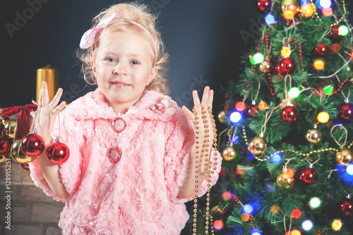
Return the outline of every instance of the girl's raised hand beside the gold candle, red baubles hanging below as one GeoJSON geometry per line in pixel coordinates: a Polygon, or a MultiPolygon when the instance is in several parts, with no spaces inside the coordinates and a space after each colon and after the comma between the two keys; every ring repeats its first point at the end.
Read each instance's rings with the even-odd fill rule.
{"type": "MultiPolygon", "coordinates": [[[[40,113],[39,116],[37,116],[37,119],[39,119],[39,125],[37,121],[35,127],[38,125],[37,133],[42,136],[44,141],[46,141],[46,144],[47,141],[52,140],[52,131],[54,129],[56,116],[58,116],[59,112],[64,109],[66,104],[66,102],[63,101],[58,105],[62,93],[63,90],[59,88],[52,102],[49,102],[47,83],[42,82],[42,88],[40,88],[40,100],[38,101],[38,106],[40,107],[40,113]]],[[[30,112],[30,115],[34,118],[35,112],[30,112]]],[[[59,133],[56,134],[59,135],[59,133]]]]}

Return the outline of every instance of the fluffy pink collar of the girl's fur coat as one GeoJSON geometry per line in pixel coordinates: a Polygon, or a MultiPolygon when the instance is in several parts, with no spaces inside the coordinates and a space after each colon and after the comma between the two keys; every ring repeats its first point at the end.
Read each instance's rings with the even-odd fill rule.
{"type": "Polygon", "coordinates": [[[153,90],[145,90],[140,100],[128,108],[125,114],[116,114],[112,107],[109,107],[104,94],[97,88],[79,97],[64,109],[64,115],[71,116],[77,120],[88,119],[116,119],[118,116],[134,116],[138,119],[155,119],[167,121],[172,119],[176,112],[177,103],[171,101],[174,107],[167,108],[163,114],[153,112],[150,107],[159,103],[163,95],[153,90]]]}

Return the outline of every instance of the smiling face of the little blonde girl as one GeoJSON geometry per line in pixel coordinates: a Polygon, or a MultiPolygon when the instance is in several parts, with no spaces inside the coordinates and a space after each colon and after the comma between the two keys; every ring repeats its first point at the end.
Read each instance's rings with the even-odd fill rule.
{"type": "Polygon", "coordinates": [[[133,31],[102,35],[92,62],[97,85],[115,112],[125,113],[140,100],[146,85],[155,77],[150,45],[133,31]]]}

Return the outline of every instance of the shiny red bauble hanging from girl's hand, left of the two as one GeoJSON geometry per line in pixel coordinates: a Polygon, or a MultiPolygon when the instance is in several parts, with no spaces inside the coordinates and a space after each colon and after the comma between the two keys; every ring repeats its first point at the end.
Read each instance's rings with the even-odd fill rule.
{"type": "Polygon", "coordinates": [[[25,155],[37,157],[44,151],[45,143],[40,135],[29,134],[23,138],[21,146],[25,155]]]}

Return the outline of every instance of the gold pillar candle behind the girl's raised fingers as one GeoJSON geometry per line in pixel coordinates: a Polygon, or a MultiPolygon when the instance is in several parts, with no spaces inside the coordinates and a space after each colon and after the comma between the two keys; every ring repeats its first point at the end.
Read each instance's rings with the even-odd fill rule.
{"type": "Polygon", "coordinates": [[[40,88],[43,81],[47,82],[49,101],[51,101],[58,90],[58,71],[50,67],[50,64],[37,69],[37,102],[40,100],[40,88]]]}

